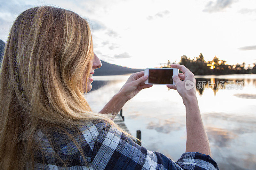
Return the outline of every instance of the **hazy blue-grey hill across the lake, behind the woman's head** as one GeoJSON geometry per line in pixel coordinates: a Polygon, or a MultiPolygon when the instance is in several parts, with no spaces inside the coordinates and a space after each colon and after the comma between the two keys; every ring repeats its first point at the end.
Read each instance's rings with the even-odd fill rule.
{"type": "MultiPolygon", "coordinates": [[[[4,45],[5,42],[0,40],[0,62],[2,61],[2,55],[4,54],[4,45]]],[[[135,73],[139,71],[143,71],[144,69],[132,69],[128,67],[122,67],[116,64],[110,64],[105,61],[101,61],[102,66],[99,69],[95,70],[93,75],[95,76],[107,76],[107,75],[124,75],[129,73],[135,73]]]]}

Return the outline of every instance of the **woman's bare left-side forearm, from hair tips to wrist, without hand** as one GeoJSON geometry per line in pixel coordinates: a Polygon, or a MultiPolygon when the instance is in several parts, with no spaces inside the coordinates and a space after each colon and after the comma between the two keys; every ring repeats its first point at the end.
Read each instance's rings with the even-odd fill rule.
{"type": "Polygon", "coordinates": [[[114,113],[117,115],[126,102],[126,98],[122,95],[122,93],[118,92],[114,97],[112,97],[112,99],[109,100],[109,102],[103,107],[103,109],[100,110],[99,113],[114,113]]]}

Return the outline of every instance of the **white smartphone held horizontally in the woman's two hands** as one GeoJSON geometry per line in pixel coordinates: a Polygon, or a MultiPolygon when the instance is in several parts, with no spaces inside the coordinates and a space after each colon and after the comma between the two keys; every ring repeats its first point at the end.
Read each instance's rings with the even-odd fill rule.
{"type": "Polygon", "coordinates": [[[148,79],[145,81],[146,85],[175,85],[172,80],[172,75],[179,74],[179,70],[176,68],[154,68],[145,69],[144,75],[148,75],[148,79]]]}

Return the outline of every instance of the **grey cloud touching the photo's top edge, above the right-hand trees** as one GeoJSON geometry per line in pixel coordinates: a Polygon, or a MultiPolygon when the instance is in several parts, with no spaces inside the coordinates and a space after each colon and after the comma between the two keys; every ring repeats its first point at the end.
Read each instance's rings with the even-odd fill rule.
{"type": "Polygon", "coordinates": [[[231,6],[231,4],[237,2],[237,0],[217,0],[215,2],[209,1],[205,5],[203,12],[220,12],[231,6]]]}

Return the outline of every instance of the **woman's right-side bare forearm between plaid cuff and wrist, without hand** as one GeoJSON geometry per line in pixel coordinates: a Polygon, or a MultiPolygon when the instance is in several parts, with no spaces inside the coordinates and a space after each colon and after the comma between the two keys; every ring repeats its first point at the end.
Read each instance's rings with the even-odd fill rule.
{"type": "Polygon", "coordinates": [[[196,97],[184,99],[187,120],[187,144],[186,152],[200,152],[211,154],[209,140],[204,129],[200,110],[196,97]]]}

